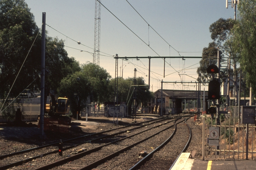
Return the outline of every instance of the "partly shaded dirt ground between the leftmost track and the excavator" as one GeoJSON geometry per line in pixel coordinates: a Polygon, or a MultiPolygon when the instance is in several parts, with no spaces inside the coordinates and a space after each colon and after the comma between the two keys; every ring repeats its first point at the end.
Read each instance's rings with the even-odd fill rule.
{"type": "MultiPolygon", "coordinates": [[[[138,115],[136,117],[137,122],[147,121],[149,119],[155,119],[158,115],[138,115]]],[[[109,129],[114,129],[120,126],[126,126],[132,123],[135,119],[132,118],[118,118],[118,124],[115,124],[113,117],[82,117],[80,120],[72,118],[71,126],[69,126],[68,132],[61,131],[45,131],[44,136],[40,135],[40,128],[38,128],[38,122],[22,122],[22,123],[0,123],[0,149],[6,146],[5,144],[20,145],[19,143],[43,145],[53,142],[58,142],[60,139],[70,139],[90,133],[97,133],[109,129]]]]}

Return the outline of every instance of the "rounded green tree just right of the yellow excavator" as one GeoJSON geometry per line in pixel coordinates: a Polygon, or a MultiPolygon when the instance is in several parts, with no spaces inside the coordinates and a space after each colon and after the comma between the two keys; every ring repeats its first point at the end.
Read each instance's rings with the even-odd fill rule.
{"type": "Polygon", "coordinates": [[[79,115],[88,99],[99,103],[106,101],[109,97],[109,78],[109,73],[102,67],[92,63],[83,64],[80,71],[61,80],[58,95],[68,97],[72,115],[77,111],[79,115]]]}

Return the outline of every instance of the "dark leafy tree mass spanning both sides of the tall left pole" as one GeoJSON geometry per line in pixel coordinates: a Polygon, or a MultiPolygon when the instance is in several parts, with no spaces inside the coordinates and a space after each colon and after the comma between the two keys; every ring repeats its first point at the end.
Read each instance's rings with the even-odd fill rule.
{"type": "MultiPolygon", "coordinates": [[[[11,96],[9,95],[8,98],[16,98],[27,87],[31,91],[40,90],[39,30],[34,22],[34,15],[24,0],[0,1],[1,99],[6,99],[9,91],[11,96]]],[[[68,57],[64,49],[64,41],[46,37],[45,95],[47,96],[49,92],[55,93],[64,77],[79,70],[79,63],[74,58],[68,57]]]]}

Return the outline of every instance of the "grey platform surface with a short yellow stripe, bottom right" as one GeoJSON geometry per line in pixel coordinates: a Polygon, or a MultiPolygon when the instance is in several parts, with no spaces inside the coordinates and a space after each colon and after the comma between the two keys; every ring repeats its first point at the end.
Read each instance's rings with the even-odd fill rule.
{"type": "Polygon", "coordinates": [[[200,161],[195,160],[191,170],[255,170],[256,160],[200,161]]]}

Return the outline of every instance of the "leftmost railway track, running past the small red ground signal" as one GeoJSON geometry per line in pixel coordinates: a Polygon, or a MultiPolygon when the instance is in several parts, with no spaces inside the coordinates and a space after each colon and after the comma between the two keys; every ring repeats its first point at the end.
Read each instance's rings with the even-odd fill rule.
{"type": "MultiPolygon", "coordinates": [[[[172,119],[172,118],[169,117],[166,119],[172,119]]],[[[75,139],[69,139],[69,140],[63,141],[66,146],[63,149],[65,153],[63,155],[64,157],[72,157],[73,153],[75,152],[75,150],[78,150],[80,145],[81,145],[80,148],[85,147],[85,150],[93,150],[94,148],[101,147],[106,143],[111,143],[111,141],[121,139],[122,136],[132,136],[132,135],[135,135],[136,133],[143,133],[143,131],[145,131],[144,129],[146,129],[147,131],[150,127],[158,128],[156,126],[157,123],[160,124],[158,125],[159,127],[164,126],[163,122],[165,121],[166,121],[165,119],[146,121],[143,123],[134,124],[133,126],[116,128],[116,129],[108,130],[101,133],[94,133],[94,134],[85,135],[75,139]],[[74,141],[76,144],[74,144],[74,141]]],[[[0,156],[0,159],[2,159],[0,160],[0,163],[3,165],[5,164],[4,166],[0,167],[0,169],[8,169],[10,167],[13,167],[12,169],[20,169],[20,168],[23,169],[28,165],[30,166],[26,167],[27,169],[34,169],[36,167],[35,165],[38,164],[39,160],[41,159],[43,160],[44,158],[47,158],[47,157],[55,157],[55,158],[53,159],[47,158],[47,161],[44,162],[44,165],[47,163],[50,164],[51,161],[62,160],[63,157],[60,157],[56,154],[57,146],[55,145],[56,143],[53,143],[53,144],[49,144],[49,145],[45,145],[37,148],[22,150],[16,153],[11,153],[9,155],[0,156]],[[11,160],[21,160],[21,161],[11,162],[11,160]]]]}

